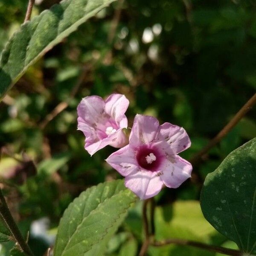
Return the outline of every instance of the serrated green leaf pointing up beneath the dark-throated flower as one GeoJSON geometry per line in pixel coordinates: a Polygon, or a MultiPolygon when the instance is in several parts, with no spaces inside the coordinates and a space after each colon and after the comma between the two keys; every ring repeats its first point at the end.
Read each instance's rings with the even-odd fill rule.
{"type": "Polygon", "coordinates": [[[113,235],[135,200],[122,180],[101,183],[82,192],[61,218],[54,256],[84,256],[94,244],[113,235]]]}

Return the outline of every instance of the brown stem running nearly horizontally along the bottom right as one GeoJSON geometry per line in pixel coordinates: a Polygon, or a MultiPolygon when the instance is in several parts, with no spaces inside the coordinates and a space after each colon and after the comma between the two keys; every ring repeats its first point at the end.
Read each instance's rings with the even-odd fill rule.
{"type": "Polygon", "coordinates": [[[189,241],[189,240],[182,240],[182,239],[167,239],[165,241],[155,241],[152,245],[154,246],[164,246],[167,244],[177,244],[177,245],[187,245],[187,246],[192,246],[192,247],[197,247],[203,250],[209,250],[212,252],[216,253],[223,253],[226,255],[231,255],[231,256],[241,256],[243,253],[239,250],[233,250],[233,249],[228,249],[224,247],[218,247],[214,245],[209,245],[209,244],[203,244],[195,241],[189,241]]]}

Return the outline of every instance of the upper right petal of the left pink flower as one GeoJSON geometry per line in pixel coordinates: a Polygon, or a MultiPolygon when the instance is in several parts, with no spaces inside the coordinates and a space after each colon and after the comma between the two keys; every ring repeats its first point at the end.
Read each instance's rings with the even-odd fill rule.
{"type": "MultiPolygon", "coordinates": [[[[128,105],[129,100],[124,95],[114,93],[106,99],[105,111],[116,121],[116,123],[119,123],[122,119],[127,120],[125,112],[128,105]]],[[[127,128],[127,126],[122,128],[127,128]]]]}

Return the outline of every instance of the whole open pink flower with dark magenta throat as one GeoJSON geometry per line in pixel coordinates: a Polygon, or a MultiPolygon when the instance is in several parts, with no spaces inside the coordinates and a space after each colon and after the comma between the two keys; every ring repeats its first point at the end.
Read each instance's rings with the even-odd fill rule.
{"type": "Polygon", "coordinates": [[[191,142],[186,131],[153,116],[136,115],[129,144],[106,160],[125,177],[125,186],[141,199],[157,195],[163,185],[177,188],[191,177],[192,166],[178,156],[191,142]]]}

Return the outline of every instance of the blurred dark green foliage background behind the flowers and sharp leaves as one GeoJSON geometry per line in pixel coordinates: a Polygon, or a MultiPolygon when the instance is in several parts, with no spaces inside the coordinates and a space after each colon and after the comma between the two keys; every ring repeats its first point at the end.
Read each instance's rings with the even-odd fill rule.
{"type": "MultiPolygon", "coordinates": [[[[58,0],[37,0],[32,16],[58,0]]],[[[23,23],[27,1],[0,0],[0,51],[23,23]]],[[[0,103],[0,180],[35,256],[54,243],[59,219],[89,186],[121,178],[93,157],[77,131],[76,107],[88,95],[113,92],[136,113],[156,116],[188,132],[189,160],[256,90],[255,0],[119,0],[80,26],[41,58],[0,103]]],[[[224,157],[256,137],[250,111],[204,161],[192,179],[156,197],[156,238],[177,237],[236,248],[204,219],[200,190],[224,157]]],[[[142,202],[111,239],[108,256],[136,256],[143,241],[142,202]]],[[[9,255],[12,242],[1,244],[9,255]]],[[[219,256],[191,247],[150,247],[150,256],[219,256]]]]}

